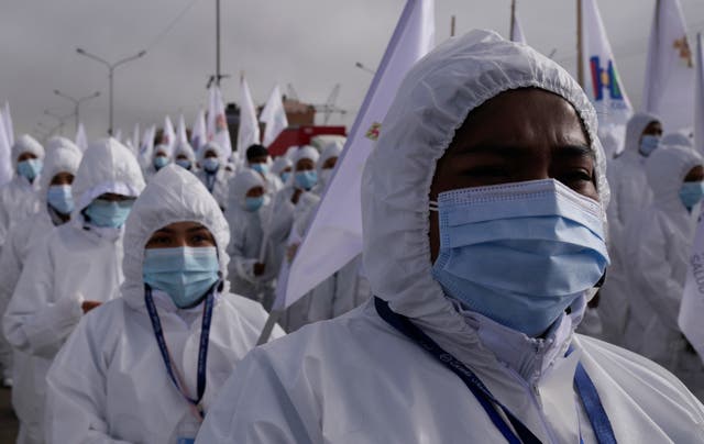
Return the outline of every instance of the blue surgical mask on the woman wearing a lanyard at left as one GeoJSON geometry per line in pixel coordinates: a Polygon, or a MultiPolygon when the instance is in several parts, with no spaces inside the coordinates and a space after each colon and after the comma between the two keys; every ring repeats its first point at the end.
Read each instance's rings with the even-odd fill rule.
{"type": "Polygon", "coordinates": [[[196,304],[219,279],[216,247],[147,248],[143,277],[150,287],[166,292],[176,307],[196,304]]]}

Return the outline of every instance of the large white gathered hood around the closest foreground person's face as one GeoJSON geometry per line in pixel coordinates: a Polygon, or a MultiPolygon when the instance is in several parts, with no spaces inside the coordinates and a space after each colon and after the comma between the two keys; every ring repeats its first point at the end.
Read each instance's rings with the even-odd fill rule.
{"type": "Polygon", "coordinates": [[[540,88],[568,100],[596,157],[603,220],[609,199],[596,114],[578,82],[529,46],[488,31],[450,38],[402,82],[362,178],[364,269],[375,296],[436,337],[476,341],[432,278],[429,192],[437,160],[476,107],[503,91],[540,88]]]}

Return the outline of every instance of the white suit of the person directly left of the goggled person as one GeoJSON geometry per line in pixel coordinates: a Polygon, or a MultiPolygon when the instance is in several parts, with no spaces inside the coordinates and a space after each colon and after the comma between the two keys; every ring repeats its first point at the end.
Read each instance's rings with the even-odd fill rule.
{"type": "MultiPolygon", "coordinates": [[[[50,147],[44,160],[43,174],[40,177],[40,211],[15,224],[10,231],[8,242],[2,247],[2,253],[0,254],[0,315],[4,313],[10,302],[29,252],[34,245],[44,242],[54,225],[63,223],[48,207],[46,192],[52,179],[57,174],[76,174],[82,154],[73,142],[63,140],[62,143],[62,145],[50,147]]],[[[6,342],[4,335],[2,335],[0,342],[6,342]]],[[[9,344],[7,344],[7,347],[11,353],[9,344]]],[[[11,378],[12,360],[8,358],[9,356],[6,355],[2,359],[3,370],[6,371],[3,377],[11,378]]]]}

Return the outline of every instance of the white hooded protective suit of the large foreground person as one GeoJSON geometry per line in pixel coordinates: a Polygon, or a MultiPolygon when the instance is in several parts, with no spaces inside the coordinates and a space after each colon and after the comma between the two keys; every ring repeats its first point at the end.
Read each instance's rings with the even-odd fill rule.
{"type": "MultiPolygon", "coordinates": [[[[435,165],[468,112],[504,90],[564,97],[584,122],[608,201],[596,115],[575,80],[529,46],[473,31],[424,57],[402,82],[362,181],[364,265],[374,295],[470,367],[542,443],[595,442],[575,396],[579,359],[620,443],[704,442],[704,408],[672,375],[575,335],[586,297],[551,334],[529,338],[460,312],[432,278],[435,165]],[[574,351],[564,357],[569,344],[574,351]]],[[[591,292],[591,291],[587,291],[591,292]]],[[[197,443],[505,443],[468,387],[367,303],[254,349],[230,377],[197,443]]]]}

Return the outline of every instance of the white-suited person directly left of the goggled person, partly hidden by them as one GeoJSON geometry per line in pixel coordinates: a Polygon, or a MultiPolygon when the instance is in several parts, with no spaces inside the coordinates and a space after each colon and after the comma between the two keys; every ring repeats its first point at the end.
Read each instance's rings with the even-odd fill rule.
{"type": "MultiPolygon", "coordinates": [[[[63,138],[63,137],[62,137],[63,138]]],[[[0,254],[0,313],[4,313],[14,287],[20,279],[24,260],[34,245],[44,242],[54,226],[70,219],[73,197],[70,185],[80,163],[81,152],[73,142],[63,138],[62,145],[48,149],[40,177],[40,211],[12,227],[0,254]]],[[[4,342],[4,335],[2,342],[4,342]]],[[[7,343],[6,343],[7,344],[7,343]]],[[[9,344],[7,344],[10,347],[9,344]]],[[[9,349],[11,352],[11,348],[9,349]]],[[[4,364],[3,382],[12,382],[12,360],[4,364]]],[[[8,384],[10,382],[10,384],[8,384]]],[[[20,388],[21,391],[21,388],[20,388]]]]}

